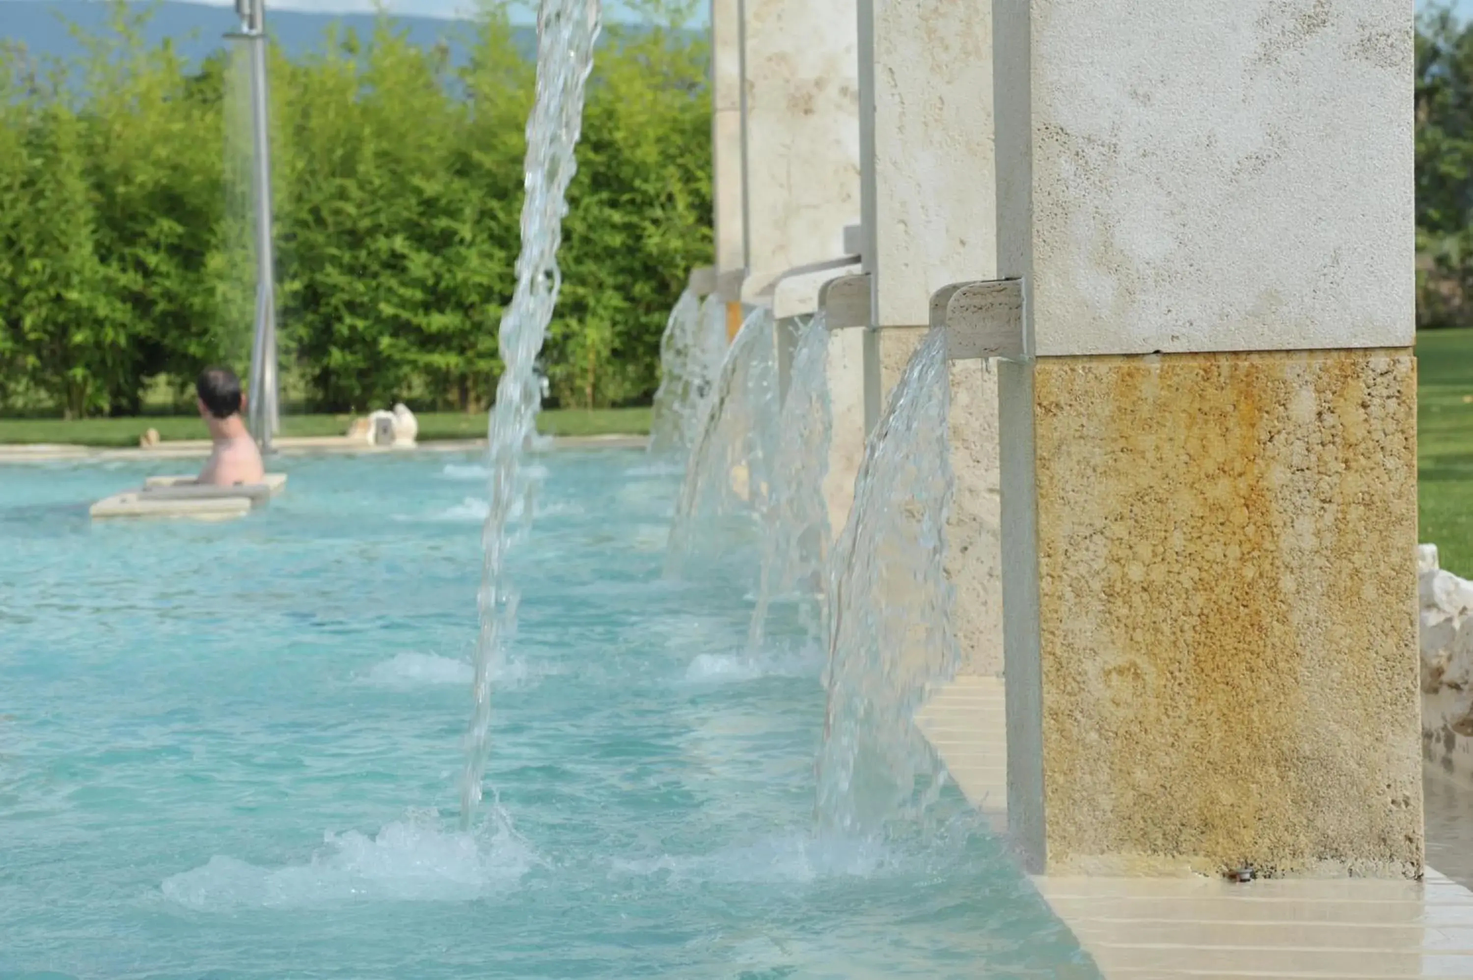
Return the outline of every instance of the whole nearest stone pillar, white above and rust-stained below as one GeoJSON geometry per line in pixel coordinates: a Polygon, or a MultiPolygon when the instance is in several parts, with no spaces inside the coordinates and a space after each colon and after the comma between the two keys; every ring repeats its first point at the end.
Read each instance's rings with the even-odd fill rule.
{"type": "Polygon", "coordinates": [[[996,10],[1010,828],[1417,877],[1411,4],[996,10]]]}

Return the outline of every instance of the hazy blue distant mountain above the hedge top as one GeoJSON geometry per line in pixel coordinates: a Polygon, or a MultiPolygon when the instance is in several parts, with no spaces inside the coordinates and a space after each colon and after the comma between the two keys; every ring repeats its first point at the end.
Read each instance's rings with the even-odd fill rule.
{"type": "MultiPolygon", "coordinates": [[[[467,50],[474,31],[468,21],[424,16],[390,16],[389,21],[414,44],[435,47],[443,43],[452,56],[467,50]]],[[[34,55],[59,57],[80,55],[81,46],[71,35],[68,22],[87,32],[97,32],[108,24],[108,4],[93,0],[0,0],[0,37],[19,41],[34,55]]],[[[327,43],[327,28],[333,24],[354,28],[364,37],[373,31],[376,18],[371,13],[302,13],[270,10],[270,7],[267,13],[267,31],[289,55],[323,50],[327,43]]],[[[222,47],[222,35],[239,25],[233,7],[162,0],[143,34],[150,43],[172,38],[175,50],[197,63],[222,47]]],[[[520,49],[535,56],[536,28],[516,28],[516,40],[520,49]]]]}

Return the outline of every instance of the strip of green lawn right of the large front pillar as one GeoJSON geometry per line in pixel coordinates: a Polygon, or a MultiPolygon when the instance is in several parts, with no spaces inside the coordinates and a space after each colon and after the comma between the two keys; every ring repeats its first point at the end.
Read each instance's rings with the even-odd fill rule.
{"type": "Polygon", "coordinates": [[[1417,337],[1421,541],[1473,578],[1473,330],[1417,337]]]}

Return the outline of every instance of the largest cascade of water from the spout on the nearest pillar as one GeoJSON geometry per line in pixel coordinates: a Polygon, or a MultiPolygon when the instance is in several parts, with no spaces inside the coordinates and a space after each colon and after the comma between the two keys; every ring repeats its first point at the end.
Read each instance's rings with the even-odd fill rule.
{"type": "Polygon", "coordinates": [[[946,337],[932,330],[869,439],[831,566],[820,831],[881,834],[921,816],[944,781],[912,718],[957,663],[943,570],[949,402],[946,337]]]}

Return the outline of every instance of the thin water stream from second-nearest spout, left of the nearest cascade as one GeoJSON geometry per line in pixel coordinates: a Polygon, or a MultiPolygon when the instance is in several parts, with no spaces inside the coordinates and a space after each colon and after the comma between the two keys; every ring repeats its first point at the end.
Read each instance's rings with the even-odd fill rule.
{"type": "Polygon", "coordinates": [[[825,570],[832,544],[823,479],[834,419],[828,392],[828,324],[816,314],[798,333],[792,380],[778,421],[772,500],[763,535],[757,609],[747,635],[762,647],[775,598],[794,595],[810,637],[826,634],[825,570]]]}

